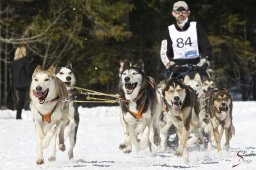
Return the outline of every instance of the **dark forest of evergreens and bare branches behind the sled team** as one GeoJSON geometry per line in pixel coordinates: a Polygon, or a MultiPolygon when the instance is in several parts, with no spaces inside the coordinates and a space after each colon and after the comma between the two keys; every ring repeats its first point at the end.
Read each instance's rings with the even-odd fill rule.
{"type": "MultiPolygon", "coordinates": [[[[15,108],[11,65],[25,45],[34,66],[71,62],[77,85],[118,92],[119,61],[142,59],[164,79],[161,38],[174,22],[174,0],[1,0],[0,106],[15,108]]],[[[187,0],[213,49],[211,68],[236,100],[256,100],[256,1],[187,0]]]]}

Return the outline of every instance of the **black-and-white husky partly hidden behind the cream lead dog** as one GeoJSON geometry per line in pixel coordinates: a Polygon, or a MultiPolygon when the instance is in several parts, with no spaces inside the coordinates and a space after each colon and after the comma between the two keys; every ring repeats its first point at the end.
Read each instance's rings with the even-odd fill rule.
{"type": "Polygon", "coordinates": [[[68,136],[70,141],[70,148],[68,151],[69,159],[73,159],[73,149],[77,140],[77,130],[79,125],[79,113],[78,106],[72,101],[73,95],[76,93],[74,89],[76,83],[76,77],[72,70],[72,65],[68,64],[65,67],[57,67],[55,69],[56,77],[58,77],[63,83],[65,83],[68,90],[68,96],[71,101],[69,102],[68,119],[63,123],[62,129],[65,129],[64,138],[68,136]]]}

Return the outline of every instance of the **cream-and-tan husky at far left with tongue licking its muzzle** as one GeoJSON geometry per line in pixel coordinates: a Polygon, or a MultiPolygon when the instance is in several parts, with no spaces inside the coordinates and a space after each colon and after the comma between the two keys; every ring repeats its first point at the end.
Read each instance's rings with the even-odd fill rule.
{"type": "Polygon", "coordinates": [[[56,138],[59,135],[60,150],[65,150],[64,136],[61,135],[62,123],[68,116],[68,92],[65,85],[55,77],[54,67],[48,70],[37,66],[30,85],[30,109],[32,111],[37,136],[36,164],[44,163],[43,149],[52,142],[49,161],[56,159],[56,138]]]}

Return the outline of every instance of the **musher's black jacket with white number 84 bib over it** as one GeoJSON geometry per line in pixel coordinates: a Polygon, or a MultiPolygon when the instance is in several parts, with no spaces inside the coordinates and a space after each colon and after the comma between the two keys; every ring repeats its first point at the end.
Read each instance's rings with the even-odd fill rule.
{"type": "Polygon", "coordinates": [[[203,27],[194,21],[188,21],[181,29],[177,23],[168,26],[161,43],[161,60],[166,66],[174,61],[178,65],[193,64],[200,57],[212,58],[212,49],[203,27]]]}

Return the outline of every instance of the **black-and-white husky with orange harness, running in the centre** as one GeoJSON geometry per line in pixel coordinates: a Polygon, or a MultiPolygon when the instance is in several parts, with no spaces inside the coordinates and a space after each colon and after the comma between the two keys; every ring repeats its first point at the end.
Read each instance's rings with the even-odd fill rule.
{"type": "Polygon", "coordinates": [[[120,106],[124,143],[119,145],[124,153],[148,149],[159,144],[160,95],[153,78],[146,76],[144,63],[125,60],[120,63],[120,106]]]}

